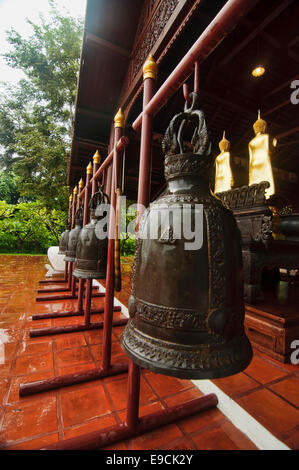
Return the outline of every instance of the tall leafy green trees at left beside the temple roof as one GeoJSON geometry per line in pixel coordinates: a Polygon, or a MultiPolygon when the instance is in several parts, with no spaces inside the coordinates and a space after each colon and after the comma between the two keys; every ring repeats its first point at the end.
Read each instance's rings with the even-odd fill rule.
{"type": "MultiPolygon", "coordinates": [[[[66,209],[66,170],[73,132],[83,22],[52,6],[47,21],[27,20],[32,35],[8,31],[7,63],[27,79],[5,85],[0,100],[0,165],[17,177],[25,200],[66,209]]],[[[6,199],[6,195],[2,196],[6,199]]],[[[11,201],[12,202],[12,201],[11,201]]]]}

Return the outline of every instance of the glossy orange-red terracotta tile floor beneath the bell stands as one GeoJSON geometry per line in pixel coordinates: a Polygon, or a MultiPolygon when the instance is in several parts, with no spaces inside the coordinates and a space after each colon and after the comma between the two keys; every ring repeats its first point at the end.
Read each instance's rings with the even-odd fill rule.
{"type": "MultiPolygon", "coordinates": [[[[20,398],[20,383],[89,370],[99,364],[102,331],[30,338],[29,329],[75,324],[80,317],[32,321],[32,313],[69,310],[70,300],[35,302],[46,257],[0,256],[0,448],[37,449],[63,438],[120,423],[126,411],[126,374],[20,398]]],[[[129,259],[124,260],[123,288],[117,295],[127,305],[129,259]]],[[[103,299],[94,299],[102,306],[103,299]]],[[[115,313],[115,318],[120,313],[115,313]]],[[[100,315],[93,315],[97,321],[100,315]]],[[[113,330],[113,359],[126,360],[119,345],[122,327],[113,330]]],[[[255,353],[240,374],[214,383],[275,436],[299,448],[298,367],[255,353]]],[[[201,396],[187,380],[142,371],[140,415],[201,396]]],[[[112,446],[113,449],[256,449],[218,409],[112,446]]]]}

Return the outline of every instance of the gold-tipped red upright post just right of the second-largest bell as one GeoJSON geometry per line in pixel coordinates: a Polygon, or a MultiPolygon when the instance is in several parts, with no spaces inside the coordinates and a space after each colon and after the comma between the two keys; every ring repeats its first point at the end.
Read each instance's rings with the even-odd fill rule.
{"type": "Polygon", "coordinates": [[[119,152],[116,143],[123,133],[124,116],[121,109],[114,118],[114,157],[112,163],[112,184],[110,199],[110,218],[109,218],[109,240],[107,254],[107,275],[106,275],[106,292],[105,292],[105,311],[104,311],[104,331],[103,331],[103,349],[102,349],[102,369],[108,370],[111,363],[111,333],[113,321],[113,304],[114,304],[114,236],[115,236],[115,209],[116,209],[116,160],[119,158],[119,152]]]}

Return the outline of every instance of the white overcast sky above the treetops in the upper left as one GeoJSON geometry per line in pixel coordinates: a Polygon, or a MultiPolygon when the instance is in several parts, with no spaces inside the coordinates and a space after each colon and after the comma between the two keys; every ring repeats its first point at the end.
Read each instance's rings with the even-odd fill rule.
{"type": "MultiPolygon", "coordinates": [[[[67,9],[72,16],[84,18],[86,0],[56,0],[59,11],[67,9]]],[[[49,15],[48,0],[0,0],[0,54],[10,48],[6,40],[5,31],[14,28],[22,36],[30,36],[31,27],[26,23],[29,18],[34,23],[39,23],[39,13],[45,18],[49,15]]],[[[17,83],[24,75],[22,72],[8,67],[0,57],[0,81],[17,83]]]]}

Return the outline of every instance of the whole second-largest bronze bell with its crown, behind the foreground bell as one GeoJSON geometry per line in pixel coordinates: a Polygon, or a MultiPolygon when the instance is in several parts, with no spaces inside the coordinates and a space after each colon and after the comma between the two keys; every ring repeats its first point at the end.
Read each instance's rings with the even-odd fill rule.
{"type": "Polygon", "coordinates": [[[73,272],[75,277],[83,279],[106,277],[108,238],[100,239],[96,234],[97,223],[104,217],[101,208],[103,203],[109,203],[109,199],[102,190],[96,192],[90,199],[91,221],[82,228],[78,238],[73,272]]]}

